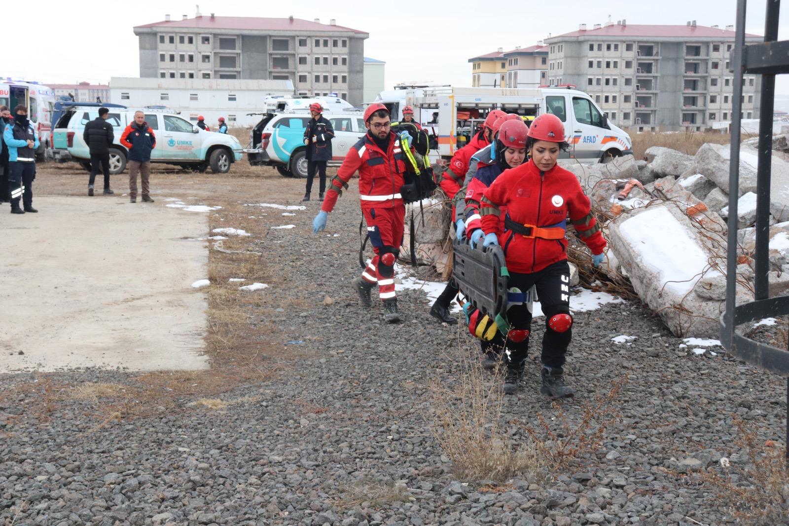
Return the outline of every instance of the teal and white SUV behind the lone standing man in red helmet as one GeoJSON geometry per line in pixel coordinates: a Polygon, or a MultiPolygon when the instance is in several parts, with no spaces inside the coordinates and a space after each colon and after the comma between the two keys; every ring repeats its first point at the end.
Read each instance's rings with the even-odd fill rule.
{"type": "MultiPolygon", "coordinates": [[[[339,166],[350,147],[365,136],[365,119],[361,113],[330,113],[329,119],[335,129],[331,141],[331,161],[328,166],[339,166]]],[[[309,119],[306,112],[266,113],[249,132],[250,148],[245,148],[252,166],[273,166],[285,177],[306,177],[307,159],[304,145],[304,130],[309,119]]]]}

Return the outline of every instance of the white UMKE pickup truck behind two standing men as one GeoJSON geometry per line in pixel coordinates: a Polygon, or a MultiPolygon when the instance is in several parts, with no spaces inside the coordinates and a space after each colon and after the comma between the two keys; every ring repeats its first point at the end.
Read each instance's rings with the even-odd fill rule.
{"type": "MultiPolygon", "coordinates": [[[[129,122],[134,122],[134,111],[110,108],[107,118],[115,134],[110,147],[110,173],[119,174],[126,167],[128,151],[120,142],[129,122]]],[[[85,124],[99,116],[99,108],[69,108],[58,120],[54,130],[54,148],[68,149],[69,156],[90,167],[90,151],[82,134],[85,124]]],[[[154,131],[156,147],[151,152],[151,163],[176,164],[182,168],[205,171],[211,167],[215,174],[226,174],[230,165],[240,161],[243,154],[237,138],[226,133],[200,130],[178,115],[163,111],[145,110],[145,122],[154,131]]]]}

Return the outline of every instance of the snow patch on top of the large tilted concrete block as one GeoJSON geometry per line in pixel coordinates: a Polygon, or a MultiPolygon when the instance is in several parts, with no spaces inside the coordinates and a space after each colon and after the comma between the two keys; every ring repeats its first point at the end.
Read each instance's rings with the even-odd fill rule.
{"type": "Polygon", "coordinates": [[[625,220],[620,231],[644,265],[658,274],[661,283],[671,280],[666,287],[677,294],[690,292],[708,265],[699,243],[664,208],[647,210],[625,220]]]}

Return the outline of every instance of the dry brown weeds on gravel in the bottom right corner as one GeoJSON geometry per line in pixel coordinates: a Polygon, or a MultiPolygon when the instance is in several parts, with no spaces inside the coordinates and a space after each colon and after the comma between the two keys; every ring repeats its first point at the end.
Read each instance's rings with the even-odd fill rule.
{"type": "Polygon", "coordinates": [[[761,441],[757,432],[734,417],[738,430],[735,445],[739,462],[721,459],[720,471],[692,475],[701,483],[715,488],[716,502],[730,510],[741,524],[787,524],[789,517],[789,471],[784,445],[761,441]]]}

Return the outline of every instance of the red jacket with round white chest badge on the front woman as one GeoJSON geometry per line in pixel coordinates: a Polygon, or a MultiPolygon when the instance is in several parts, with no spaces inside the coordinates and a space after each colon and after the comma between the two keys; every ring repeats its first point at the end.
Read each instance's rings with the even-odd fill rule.
{"type": "MultiPolygon", "coordinates": [[[[538,272],[567,259],[567,238],[526,236],[502,228],[506,213],[515,223],[528,227],[563,229],[570,217],[581,241],[592,254],[602,254],[606,242],[575,175],[558,164],[540,171],[533,160],[505,170],[484,190],[480,201],[482,230],[495,232],[504,250],[507,268],[513,272],[538,272]],[[502,212],[503,207],[506,212],[502,212]]],[[[559,231],[561,232],[561,231],[559,231]]]]}

